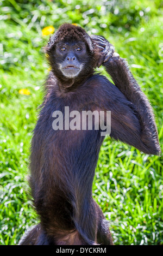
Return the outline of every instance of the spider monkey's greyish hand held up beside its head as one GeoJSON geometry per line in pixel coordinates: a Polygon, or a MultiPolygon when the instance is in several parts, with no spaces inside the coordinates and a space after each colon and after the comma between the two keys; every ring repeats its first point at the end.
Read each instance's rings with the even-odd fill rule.
{"type": "Polygon", "coordinates": [[[118,53],[114,53],[114,46],[109,43],[108,40],[99,36],[99,35],[92,35],[91,36],[94,47],[97,47],[98,52],[100,52],[100,57],[97,61],[97,67],[99,68],[103,62],[108,61],[111,57],[118,57],[118,53]],[[116,56],[113,56],[116,55],[116,56]]]}

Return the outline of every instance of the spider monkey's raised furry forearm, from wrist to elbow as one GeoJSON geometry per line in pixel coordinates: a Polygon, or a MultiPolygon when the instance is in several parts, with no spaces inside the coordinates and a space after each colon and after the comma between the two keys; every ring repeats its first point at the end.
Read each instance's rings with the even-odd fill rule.
{"type": "Polygon", "coordinates": [[[120,58],[117,53],[113,53],[113,56],[103,65],[114,81],[115,86],[134,105],[134,111],[140,123],[140,138],[148,151],[146,153],[159,155],[158,132],[151,105],[139,85],[137,85],[129,70],[127,61],[120,58]]]}

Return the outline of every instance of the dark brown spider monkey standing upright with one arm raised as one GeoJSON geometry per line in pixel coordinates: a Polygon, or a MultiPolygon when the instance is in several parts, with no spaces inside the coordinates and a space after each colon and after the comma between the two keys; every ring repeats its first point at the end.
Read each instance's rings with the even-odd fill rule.
{"type": "Polygon", "coordinates": [[[92,182],[104,136],[100,129],[52,128],[53,111],[111,111],[110,137],[147,154],[160,154],[158,132],[147,97],[127,61],[108,40],[82,27],[61,25],[44,47],[51,72],[34,129],[30,188],[40,216],[20,245],[112,245],[92,182]],[[95,73],[103,65],[111,76],[95,73]]]}

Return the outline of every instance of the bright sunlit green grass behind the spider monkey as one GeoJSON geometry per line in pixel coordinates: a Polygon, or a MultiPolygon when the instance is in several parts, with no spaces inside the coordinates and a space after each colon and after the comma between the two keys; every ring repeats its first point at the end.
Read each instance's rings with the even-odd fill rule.
{"type": "MultiPolygon", "coordinates": [[[[66,21],[109,39],[121,57],[128,59],[153,106],[162,148],[163,19],[161,1],[109,5],[106,1],[12,0],[0,4],[0,244],[15,245],[38,221],[27,176],[32,130],[48,74],[41,52],[48,36],[42,37],[42,28],[53,25],[57,29],[66,21]],[[84,13],[90,9],[93,12],[84,13]],[[18,93],[22,88],[30,95],[18,93]]],[[[163,244],[162,163],[162,157],[105,138],[93,197],[110,221],[116,245],[163,244]]]]}

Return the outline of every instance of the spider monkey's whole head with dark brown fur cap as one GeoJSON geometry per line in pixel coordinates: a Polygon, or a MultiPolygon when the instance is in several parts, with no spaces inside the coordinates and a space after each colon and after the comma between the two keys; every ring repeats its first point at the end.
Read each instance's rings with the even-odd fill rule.
{"type": "Polygon", "coordinates": [[[44,49],[52,72],[60,81],[83,79],[96,67],[98,53],[82,27],[64,23],[44,49]]]}

